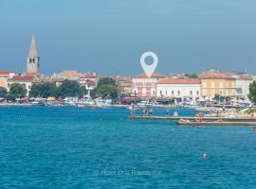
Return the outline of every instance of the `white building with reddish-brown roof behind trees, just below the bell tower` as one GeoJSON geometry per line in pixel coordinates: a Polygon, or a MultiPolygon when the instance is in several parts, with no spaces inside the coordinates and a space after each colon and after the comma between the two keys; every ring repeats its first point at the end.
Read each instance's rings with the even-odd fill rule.
{"type": "Polygon", "coordinates": [[[20,83],[24,85],[27,90],[27,95],[30,92],[32,84],[42,83],[42,79],[34,76],[14,76],[8,79],[8,91],[12,83],[20,83]]]}

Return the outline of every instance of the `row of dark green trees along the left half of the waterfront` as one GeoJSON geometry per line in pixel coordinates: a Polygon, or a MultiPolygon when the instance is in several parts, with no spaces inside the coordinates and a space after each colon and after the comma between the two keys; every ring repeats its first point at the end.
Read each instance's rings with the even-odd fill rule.
{"type": "MultiPolygon", "coordinates": [[[[44,98],[48,96],[54,96],[56,98],[78,96],[81,98],[84,94],[87,94],[85,87],[81,86],[77,81],[64,80],[59,87],[52,82],[32,84],[28,96],[44,98]]],[[[0,97],[4,97],[7,100],[14,101],[16,98],[23,98],[26,96],[27,89],[23,84],[12,83],[9,92],[7,92],[7,89],[0,87],[0,97]]],[[[110,77],[101,78],[97,88],[92,90],[91,96],[92,98],[102,97],[116,99],[119,96],[119,89],[116,85],[116,81],[110,77]]]]}

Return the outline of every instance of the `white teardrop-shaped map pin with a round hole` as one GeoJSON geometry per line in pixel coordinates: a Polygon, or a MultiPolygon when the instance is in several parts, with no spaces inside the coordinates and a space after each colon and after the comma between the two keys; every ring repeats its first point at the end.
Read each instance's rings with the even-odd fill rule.
{"type": "Polygon", "coordinates": [[[155,68],[157,66],[157,63],[158,63],[158,58],[154,52],[145,52],[140,57],[141,67],[143,68],[147,77],[151,77],[153,75],[155,68]],[[148,64],[145,62],[147,57],[152,57],[152,59],[153,59],[152,64],[148,64]]]}

